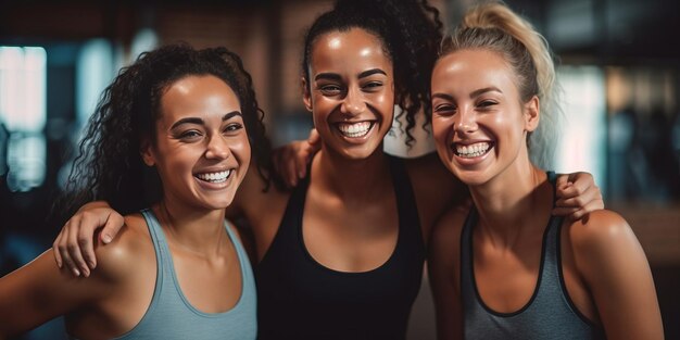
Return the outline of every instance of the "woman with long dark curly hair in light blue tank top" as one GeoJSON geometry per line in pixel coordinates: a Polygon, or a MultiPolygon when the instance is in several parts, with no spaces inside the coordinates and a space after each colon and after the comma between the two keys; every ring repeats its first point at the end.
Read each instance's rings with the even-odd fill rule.
{"type": "Polygon", "coordinates": [[[95,245],[89,279],[51,250],[1,278],[0,338],[65,315],[78,339],[254,339],[254,277],[225,207],[263,134],[238,55],[141,54],[105,89],[70,176],[72,206],[105,200],[126,214],[119,236],[95,245]]]}

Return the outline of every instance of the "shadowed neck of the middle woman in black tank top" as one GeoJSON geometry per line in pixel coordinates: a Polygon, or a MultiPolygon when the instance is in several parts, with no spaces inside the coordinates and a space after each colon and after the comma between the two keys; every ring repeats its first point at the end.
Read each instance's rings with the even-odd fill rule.
{"type": "Polygon", "coordinates": [[[362,160],[350,160],[322,149],[312,162],[312,181],[348,201],[379,199],[386,188],[391,188],[388,162],[381,146],[362,160]]]}

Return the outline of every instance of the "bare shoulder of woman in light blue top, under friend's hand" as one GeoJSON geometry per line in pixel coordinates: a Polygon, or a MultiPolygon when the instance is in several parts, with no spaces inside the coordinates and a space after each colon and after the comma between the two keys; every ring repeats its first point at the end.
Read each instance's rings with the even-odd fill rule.
{"type": "Polygon", "coordinates": [[[135,275],[136,268],[155,263],[153,242],[141,214],[125,216],[123,228],[111,243],[102,243],[99,237],[96,239],[98,264],[92,274],[103,279],[123,279],[127,275],[135,275]]]}

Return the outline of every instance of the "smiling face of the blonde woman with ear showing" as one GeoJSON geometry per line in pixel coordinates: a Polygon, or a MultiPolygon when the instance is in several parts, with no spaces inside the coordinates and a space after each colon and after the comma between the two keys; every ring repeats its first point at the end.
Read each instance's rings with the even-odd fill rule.
{"type": "Polygon", "coordinates": [[[463,182],[481,185],[529,162],[526,137],[538,126],[538,98],[521,102],[500,54],[459,50],[441,58],[431,90],[437,152],[463,182]]]}

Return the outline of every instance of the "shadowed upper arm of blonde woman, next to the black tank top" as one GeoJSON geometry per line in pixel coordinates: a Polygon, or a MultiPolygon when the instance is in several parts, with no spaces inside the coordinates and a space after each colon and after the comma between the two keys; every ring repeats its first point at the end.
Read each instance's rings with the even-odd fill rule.
{"type": "Polygon", "coordinates": [[[463,338],[463,306],[459,290],[459,244],[465,212],[446,212],[432,229],[428,275],[437,316],[439,339],[463,338]]]}

